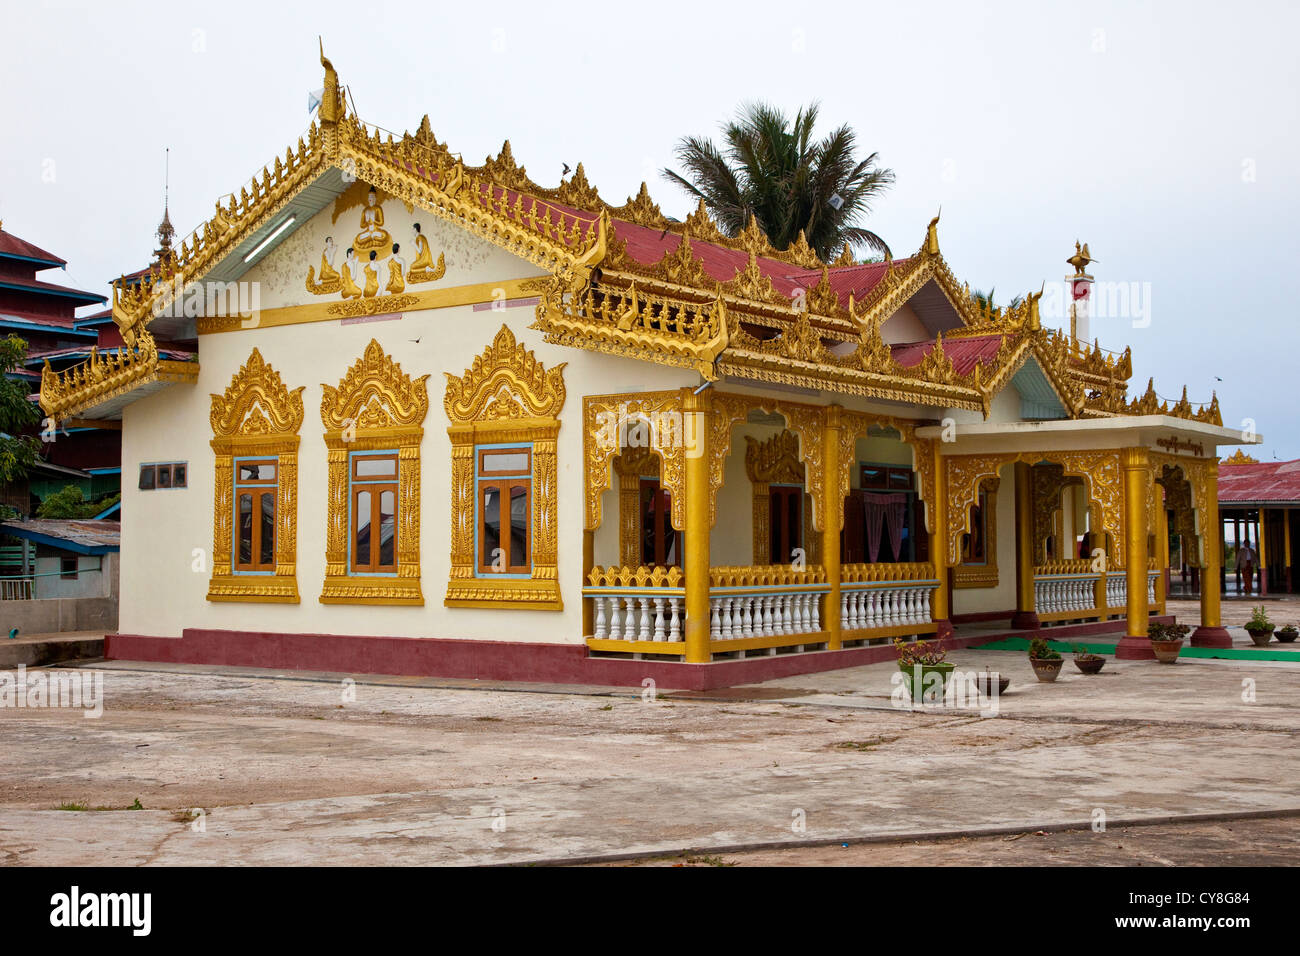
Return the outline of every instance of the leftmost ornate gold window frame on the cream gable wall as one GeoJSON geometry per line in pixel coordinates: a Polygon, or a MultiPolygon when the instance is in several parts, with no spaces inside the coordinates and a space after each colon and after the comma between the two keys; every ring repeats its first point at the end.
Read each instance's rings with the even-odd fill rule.
{"type": "Polygon", "coordinates": [[[231,377],[224,394],[212,395],[213,470],[212,579],[209,601],[298,604],[298,431],[303,424],[303,386],[285,388],[256,349],[231,377]],[[274,458],[276,571],[234,571],[234,460],[274,458]]]}

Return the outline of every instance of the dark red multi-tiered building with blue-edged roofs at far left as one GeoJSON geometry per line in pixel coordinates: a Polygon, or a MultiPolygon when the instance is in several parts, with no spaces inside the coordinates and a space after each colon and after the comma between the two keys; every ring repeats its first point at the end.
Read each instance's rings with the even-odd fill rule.
{"type": "MultiPolygon", "coordinates": [[[[0,336],[18,336],[27,342],[25,367],[13,373],[40,388],[40,369],[53,371],[78,365],[101,346],[103,316],[78,319],[78,307],[104,304],[105,297],[70,289],[38,277],[49,269],[68,265],[58,256],[46,252],[0,224],[0,336]]],[[[109,325],[110,315],[109,315],[109,325]]],[[[109,337],[116,337],[110,328],[109,337]]],[[[34,514],[36,505],[68,485],[82,489],[87,499],[101,498],[118,490],[121,472],[121,433],[117,423],[94,421],[90,427],[65,421],[53,441],[42,444],[42,460],[23,481],[10,483],[0,492],[4,503],[21,514],[34,514]]],[[[34,428],[32,434],[40,429],[34,428]]],[[[8,568],[0,567],[0,574],[8,568]]]]}

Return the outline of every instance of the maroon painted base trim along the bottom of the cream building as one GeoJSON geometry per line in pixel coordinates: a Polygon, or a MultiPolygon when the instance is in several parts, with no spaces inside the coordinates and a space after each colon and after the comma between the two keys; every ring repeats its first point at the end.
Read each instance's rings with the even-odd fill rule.
{"type": "MultiPolygon", "coordinates": [[[[949,648],[991,640],[989,635],[953,637],[949,648]]],[[[433,637],[364,637],[329,633],[256,633],[186,628],[181,637],[110,633],[104,637],[109,661],[203,663],[228,667],[399,674],[406,676],[517,680],[545,684],[641,687],[645,678],[681,691],[775,680],[840,667],[893,661],[890,644],[844,650],[814,650],[742,661],[681,663],[588,657],[584,644],[445,640],[433,637]]]]}

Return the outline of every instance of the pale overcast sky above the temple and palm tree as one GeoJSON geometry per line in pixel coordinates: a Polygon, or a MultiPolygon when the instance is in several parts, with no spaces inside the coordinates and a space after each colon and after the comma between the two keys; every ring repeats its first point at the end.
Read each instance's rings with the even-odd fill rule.
{"type": "Polygon", "coordinates": [[[187,234],[296,143],[317,34],[368,122],[428,113],[474,164],[508,138],[543,185],[582,161],[614,203],[649,178],[677,217],[680,137],[820,100],[897,176],[870,220],[896,256],[942,206],[948,263],[1005,303],[1084,239],[1139,295],[1092,329],[1134,347],[1131,392],[1217,389],[1257,457],[1300,458],[1297,27],[1287,3],[12,4],[0,219],[107,293],[155,247],[166,147],[187,234]]]}

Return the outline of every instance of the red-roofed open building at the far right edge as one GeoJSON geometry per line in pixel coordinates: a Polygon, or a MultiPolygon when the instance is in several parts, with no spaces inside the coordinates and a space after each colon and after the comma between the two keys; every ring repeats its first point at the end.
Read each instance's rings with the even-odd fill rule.
{"type": "MultiPolygon", "coordinates": [[[[1219,463],[1219,515],[1228,557],[1249,544],[1260,555],[1254,587],[1261,594],[1295,591],[1292,542],[1300,542],[1300,460],[1260,462],[1238,451],[1219,463]]],[[[1223,587],[1245,591],[1235,561],[1225,563],[1223,587]]]]}

